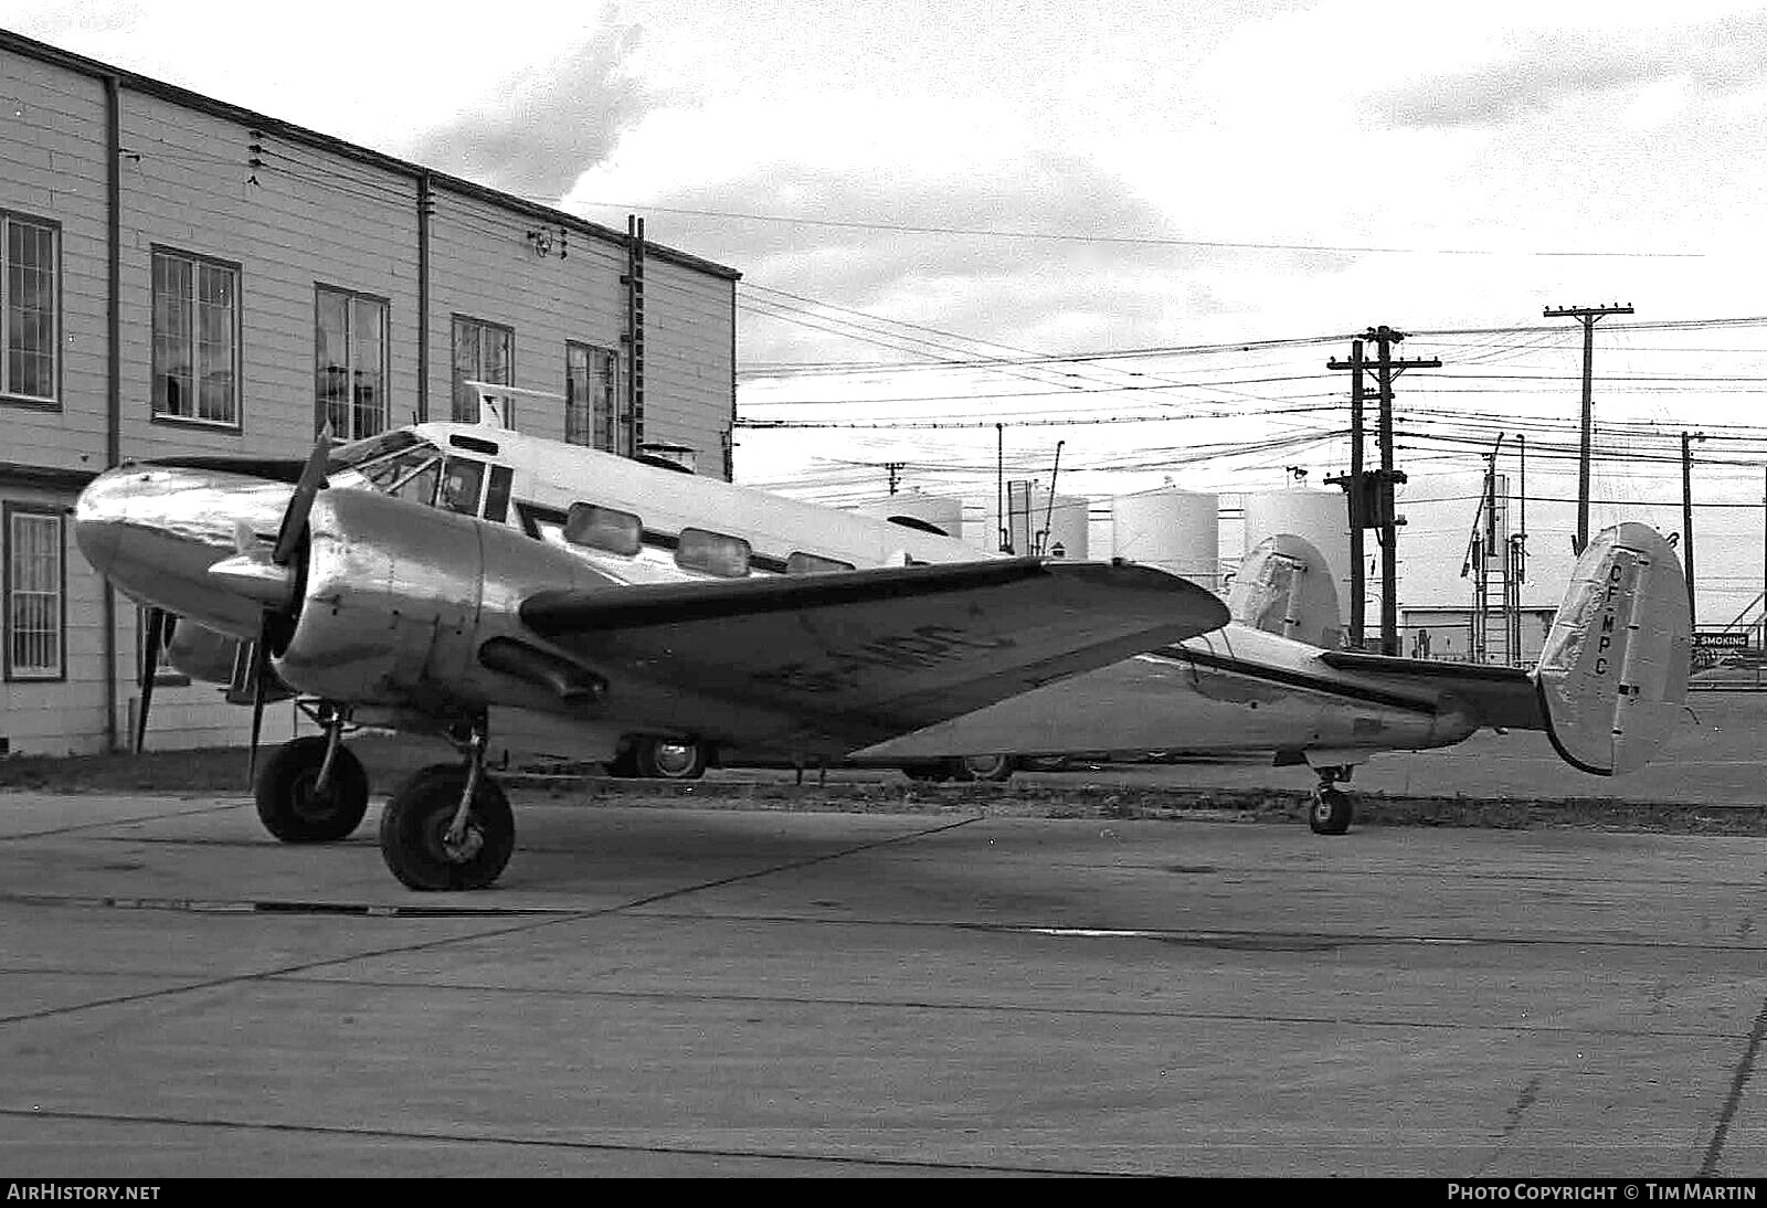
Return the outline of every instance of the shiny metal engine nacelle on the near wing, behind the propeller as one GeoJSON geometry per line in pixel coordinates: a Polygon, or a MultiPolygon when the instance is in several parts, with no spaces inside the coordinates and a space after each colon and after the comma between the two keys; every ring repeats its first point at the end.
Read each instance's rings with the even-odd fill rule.
{"type": "Polygon", "coordinates": [[[542,588],[617,590],[583,558],[369,491],[322,493],[307,525],[300,611],[274,659],[290,685],[431,717],[493,703],[562,712],[594,699],[594,676],[518,615],[542,588]]]}

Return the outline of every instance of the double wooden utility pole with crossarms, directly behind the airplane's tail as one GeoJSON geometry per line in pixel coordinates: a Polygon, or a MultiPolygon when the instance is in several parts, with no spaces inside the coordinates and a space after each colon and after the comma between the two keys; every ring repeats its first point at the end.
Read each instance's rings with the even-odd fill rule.
{"type": "MultiPolygon", "coordinates": [[[[1405,475],[1392,468],[1392,380],[1407,369],[1440,369],[1437,357],[1392,357],[1392,346],[1405,339],[1405,332],[1391,327],[1371,327],[1362,339],[1375,341],[1375,397],[1380,403],[1380,470],[1373,475],[1362,472],[1362,390],[1357,389],[1362,367],[1362,341],[1350,346],[1350,360],[1329,360],[1329,369],[1350,369],[1350,473],[1345,479],[1329,479],[1350,493],[1350,555],[1355,560],[1357,579],[1361,578],[1362,553],[1359,533],[1362,528],[1380,530],[1380,653],[1399,653],[1399,532],[1394,512],[1394,487],[1405,482],[1405,475]]],[[[1352,618],[1361,600],[1361,592],[1352,588],[1352,618]]],[[[1357,630],[1352,625],[1352,636],[1357,630]]]]}

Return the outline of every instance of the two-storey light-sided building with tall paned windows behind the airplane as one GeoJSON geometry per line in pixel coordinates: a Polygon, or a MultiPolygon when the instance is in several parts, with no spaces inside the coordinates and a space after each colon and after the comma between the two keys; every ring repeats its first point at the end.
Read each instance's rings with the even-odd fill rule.
{"type": "MultiPolygon", "coordinates": [[[[565,396],[523,431],[728,479],[737,276],[0,30],[0,752],[127,742],[140,620],[67,523],[99,470],[472,419],[482,378],[565,396]]],[[[152,722],[246,724],[164,678],[152,722]]]]}

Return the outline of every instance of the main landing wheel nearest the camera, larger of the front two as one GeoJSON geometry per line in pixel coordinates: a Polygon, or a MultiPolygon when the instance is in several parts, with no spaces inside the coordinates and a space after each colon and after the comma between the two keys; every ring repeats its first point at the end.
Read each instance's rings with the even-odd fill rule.
{"type": "Polygon", "coordinates": [[[380,814],[380,858],[406,888],[477,890],[491,885],[516,849],[516,818],[504,789],[479,777],[466,814],[466,851],[444,844],[454,807],[466,788],[466,768],[431,765],[408,779],[380,814]]]}

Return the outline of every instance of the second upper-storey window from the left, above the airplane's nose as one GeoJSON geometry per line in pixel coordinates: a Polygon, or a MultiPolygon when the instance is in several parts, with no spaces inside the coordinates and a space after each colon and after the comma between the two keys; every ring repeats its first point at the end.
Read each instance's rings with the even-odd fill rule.
{"type": "Polygon", "coordinates": [[[239,265],[154,251],[154,419],[239,426],[239,265]]]}

